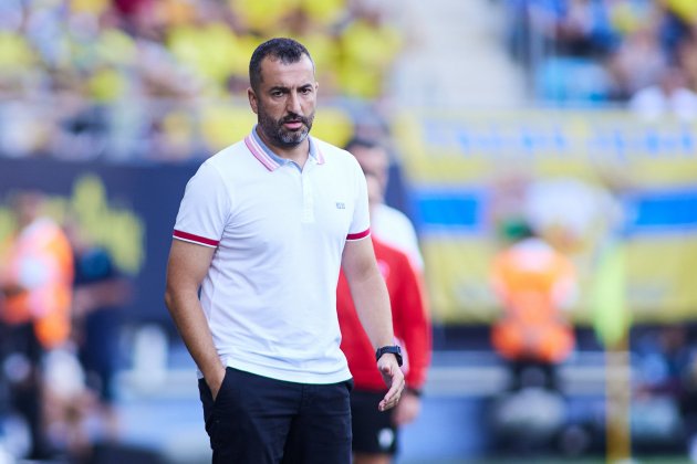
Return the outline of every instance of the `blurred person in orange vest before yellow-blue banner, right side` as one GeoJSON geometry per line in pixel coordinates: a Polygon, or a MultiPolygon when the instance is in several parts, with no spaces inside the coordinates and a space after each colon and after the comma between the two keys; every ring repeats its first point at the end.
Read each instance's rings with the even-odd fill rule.
{"type": "Polygon", "coordinates": [[[524,221],[504,224],[510,243],[495,257],[492,287],[502,307],[491,342],[506,361],[508,389],[496,398],[493,425],[502,449],[547,447],[565,423],[558,368],[571,354],[574,333],[563,307],[575,292],[570,260],[524,221]]]}

